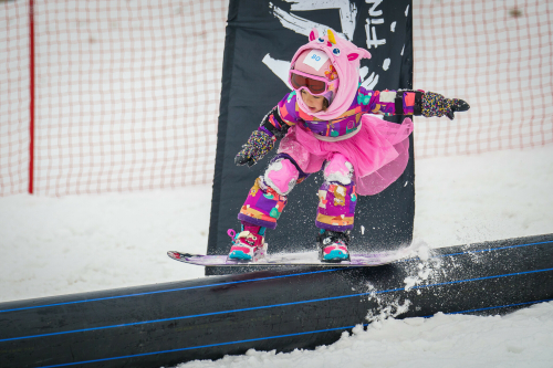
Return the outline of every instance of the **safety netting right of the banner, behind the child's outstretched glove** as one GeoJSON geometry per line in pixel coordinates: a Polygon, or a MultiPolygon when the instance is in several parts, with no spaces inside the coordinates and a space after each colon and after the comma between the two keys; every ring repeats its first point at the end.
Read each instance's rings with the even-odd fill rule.
{"type": "Polygon", "coordinates": [[[553,143],[553,2],[414,1],[414,87],[470,103],[417,119],[417,158],[553,143]]]}

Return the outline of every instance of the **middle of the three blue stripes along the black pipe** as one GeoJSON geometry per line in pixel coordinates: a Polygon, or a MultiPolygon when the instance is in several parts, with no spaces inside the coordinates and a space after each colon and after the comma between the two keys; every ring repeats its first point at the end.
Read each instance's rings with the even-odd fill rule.
{"type": "MultiPolygon", "coordinates": [[[[549,272],[549,271],[553,271],[553,269],[517,272],[517,273],[510,273],[510,274],[503,274],[503,275],[476,277],[476,278],[467,278],[467,280],[457,280],[457,281],[449,281],[449,282],[445,282],[445,283],[436,283],[436,284],[429,284],[429,285],[419,285],[419,286],[413,286],[413,287],[408,288],[407,291],[409,291],[409,290],[418,290],[418,288],[428,288],[428,287],[435,287],[435,286],[444,286],[444,285],[453,285],[453,284],[468,283],[468,282],[482,281],[482,280],[510,277],[510,276],[518,276],[518,275],[540,273],[540,272],[549,272]]],[[[199,317],[207,317],[207,316],[215,316],[215,315],[230,314],[230,313],[240,313],[240,312],[249,312],[249,311],[258,311],[258,309],[269,309],[269,308],[276,308],[276,307],[290,306],[290,305],[299,305],[299,304],[306,304],[306,303],[319,303],[319,302],[335,301],[335,299],[343,299],[343,298],[349,298],[349,297],[359,297],[359,296],[365,296],[365,295],[385,294],[385,293],[401,292],[401,291],[406,291],[406,288],[405,287],[398,287],[398,288],[390,288],[390,290],[377,291],[377,292],[348,294],[348,295],[323,297],[323,298],[317,298],[317,299],[299,301],[299,302],[290,302],[290,303],[272,304],[272,305],[263,305],[263,306],[255,306],[255,307],[240,308],[240,309],[229,309],[229,311],[220,311],[220,312],[210,312],[210,313],[196,314],[196,315],[189,315],[189,316],[180,316],[180,317],[173,317],[173,318],[163,318],[163,319],[135,322],[135,323],[129,323],[129,324],[121,324],[121,325],[112,325],[112,326],[102,326],[102,327],[74,329],[74,330],[67,330],[67,332],[61,332],[61,333],[31,335],[31,336],[22,336],[22,337],[11,337],[11,338],[0,339],[0,343],[13,341],[13,340],[22,340],[22,339],[28,339],[28,338],[39,338],[39,337],[50,337],[50,336],[56,336],[56,335],[84,333],[84,332],[91,332],[91,330],[102,330],[102,329],[108,329],[108,328],[131,327],[131,326],[138,326],[138,325],[154,324],[154,323],[169,322],[169,320],[180,320],[180,319],[189,319],[189,318],[199,318],[199,317]]]]}

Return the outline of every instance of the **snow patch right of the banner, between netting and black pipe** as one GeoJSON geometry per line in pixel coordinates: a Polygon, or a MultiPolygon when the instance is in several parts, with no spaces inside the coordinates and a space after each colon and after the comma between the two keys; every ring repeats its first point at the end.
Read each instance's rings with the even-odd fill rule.
{"type": "Polygon", "coordinates": [[[414,236],[432,248],[553,233],[553,146],[415,162],[414,236]]]}

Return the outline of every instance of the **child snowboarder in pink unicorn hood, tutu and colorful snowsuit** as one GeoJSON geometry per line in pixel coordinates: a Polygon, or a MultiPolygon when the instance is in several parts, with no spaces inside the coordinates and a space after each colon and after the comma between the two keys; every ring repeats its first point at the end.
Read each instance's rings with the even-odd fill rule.
{"type": "Polygon", "coordinates": [[[386,189],[405,170],[413,122],[388,123],[368,114],[448,116],[465,112],[462,99],[422,91],[367,91],[359,84],[359,60],[368,51],[316,29],[291,62],[293,91],[263,118],[237,165],[254,165],[282,139],[276,156],[255,179],[238,219],[229,259],[251,261],[264,255],[265,229],[274,229],[286,196],[310,174],[323,169],[315,220],[323,262],[349,260],[349,232],[357,196],[386,189]]]}

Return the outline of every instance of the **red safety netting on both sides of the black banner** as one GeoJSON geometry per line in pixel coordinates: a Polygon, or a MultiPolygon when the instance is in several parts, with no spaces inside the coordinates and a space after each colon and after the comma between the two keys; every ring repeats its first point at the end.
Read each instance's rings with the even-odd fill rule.
{"type": "MultiPolygon", "coordinates": [[[[553,143],[552,11],[414,2],[414,87],[471,105],[416,118],[417,158],[553,143]]],[[[0,196],[29,188],[31,103],[34,193],[211,182],[227,15],[226,0],[0,2],[0,196]]]]}

